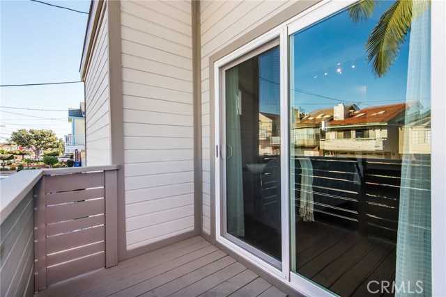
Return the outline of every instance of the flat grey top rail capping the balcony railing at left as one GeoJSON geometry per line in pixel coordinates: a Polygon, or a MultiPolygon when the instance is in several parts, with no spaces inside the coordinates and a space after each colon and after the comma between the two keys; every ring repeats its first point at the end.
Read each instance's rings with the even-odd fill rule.
{"type": "Polygon", "coordinates": [[[118,170],[118,165],[50,168],[43,170],[22,170],[0,182],[0,224],[8,218],[15,207],[33,190],[43,175],[63,175],[79,172],[118,170]]]}

